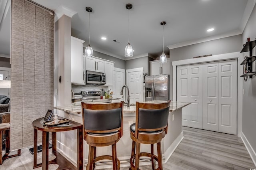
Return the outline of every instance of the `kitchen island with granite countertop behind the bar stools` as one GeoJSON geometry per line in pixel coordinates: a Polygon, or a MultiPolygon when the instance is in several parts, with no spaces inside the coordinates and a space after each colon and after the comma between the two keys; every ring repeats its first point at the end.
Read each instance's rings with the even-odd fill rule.
{"type": "MultiPolygon", "coordinates": [[[[148,101],[147,103],[155,103],[161,101],[148,101]]],[[[189,105],[190,103],[182,103],[172,101],[170,103],[170,112],[168,118],[168,133],[163,138],[161,146],[162,146],[162,159],[163,164],[165,164],[175,148],[183,139],[182,132],[182,107],[189,105]]],[[[70,105],[70,106],[58,106],[54,107],[54,112],[58,113],[59,116],[65,117],[66,119],[70,119],[76,121],[78,123],[82,123],[82,108],[81,105],[70,105]]],[[[136,106],[124,106],[124,114],[123,114],[123,136],[117,142],[117,156],[120,160],[121,167],[130,166],[130,154],[132,149],[132,139],[130,138],[130,130],[129,127],[132,123],[135,122],[136,116],[136,106]]],[[[76,132],[64,132],[60,136],[57,136],[57,148],[58,151],[68,157],[72,162],[76,162],[76,147],[73,144],[76,144],[76,132]],[[66,143],[67,140],[65,138],[72,138],[72,142],[66,143]]],[[[88,144],[84,141],[84,163],[87,162],[88,159],[88,144]]],[[[141,145],[141,152],[150,152],[149,144],[141,145]]],[[[96,152],[99,154],[111,155],[111,146],[99,148],[96,152]]],[[[140,162],[140,165],[151,164],[149,159],[144,159],[140,162]]],[[[112,162],[105,162],[100,165],[100,168],[111,168],[112,162]]]]}

